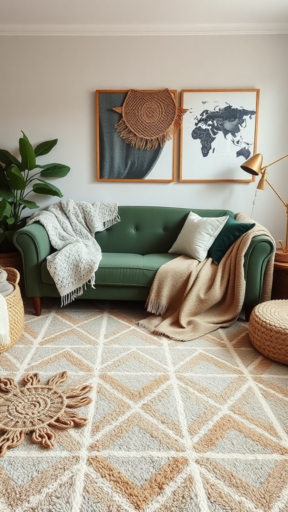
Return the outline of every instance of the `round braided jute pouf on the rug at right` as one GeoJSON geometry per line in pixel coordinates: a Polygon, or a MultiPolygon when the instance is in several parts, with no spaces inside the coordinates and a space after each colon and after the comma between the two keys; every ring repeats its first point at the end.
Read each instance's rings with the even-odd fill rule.
{"type": "Polygon", "coordinates": [[[255,306],[249,320],[249,336],[261,354],[288,364],[288,300],[255,306]]]}

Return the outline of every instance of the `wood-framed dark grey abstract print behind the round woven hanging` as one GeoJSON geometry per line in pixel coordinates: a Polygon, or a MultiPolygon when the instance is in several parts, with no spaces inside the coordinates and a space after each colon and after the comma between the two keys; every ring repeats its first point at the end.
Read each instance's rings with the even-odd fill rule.
{"type": "MultiPolygon", "coordinates": [[[[174,136],[162,148],[140,150],[126,143],[115,129],[129,89],[96,90],[96,163],[98,181],[166,182],[176,178],[176,141],[174,136]],[[133,175],[136,173],[136,177],[133,175]]],[[[169,92],[175,99],[177,91],[169,92]]]]}

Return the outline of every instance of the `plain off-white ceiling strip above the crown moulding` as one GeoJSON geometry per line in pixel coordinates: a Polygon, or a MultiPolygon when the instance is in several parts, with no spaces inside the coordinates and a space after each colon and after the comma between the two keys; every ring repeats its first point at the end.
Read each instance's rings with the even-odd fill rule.
{"type": "Polygon", "coordinates": [[[0,0],[0,34],[288,33],[288,0],[0,0]]]}

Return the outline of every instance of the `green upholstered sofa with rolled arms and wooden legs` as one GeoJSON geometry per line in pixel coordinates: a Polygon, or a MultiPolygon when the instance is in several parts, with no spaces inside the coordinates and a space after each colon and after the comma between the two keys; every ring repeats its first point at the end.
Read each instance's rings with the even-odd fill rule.
{"type": "MultiPolygon", "coordinates": [[[[228,210],[119,206],[120,222],[95,233],[102,260],[95,273],[95,288],[88,286],[79,298],[145,301],[157,269],[177,258],[168,251],[190,211],[201,217],[220,217],[228,210]]],[[[232,211],[228,215],[235,218],[232,211]]],[[[26,294],[32,297],[35,314],[40,315],[42,297],[59,296],[46,266],[54,249],[46,229],[38,223],[16,231],[13,240],[22,254],[26,294]]],[[[254,237],[246,251],[246,319],[260,302],[263,273],[273,252],[273,242],[265,236],[254,237]]]]}

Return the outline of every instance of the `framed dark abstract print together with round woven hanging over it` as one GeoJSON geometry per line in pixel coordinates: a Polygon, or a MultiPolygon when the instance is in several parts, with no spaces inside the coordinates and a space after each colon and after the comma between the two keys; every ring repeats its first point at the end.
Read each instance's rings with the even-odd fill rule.
{"type": "Polygon", "coordinates": [[[182,122],[176,95],[168,89],[96,90],[98,181],[175,181],[174,132],[182,122]]]}

